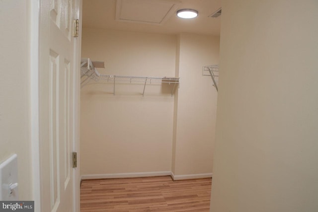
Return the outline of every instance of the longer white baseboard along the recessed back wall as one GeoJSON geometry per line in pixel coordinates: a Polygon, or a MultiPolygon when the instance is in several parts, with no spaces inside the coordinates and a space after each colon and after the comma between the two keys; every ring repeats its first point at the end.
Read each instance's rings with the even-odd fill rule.
{"type": "Polygon", "coordinates": [[[133,172],[133,173],[115,173],[115,174],[84,174],[81,175],[81,180],[89,179],[109,179],[109,178],[132,178],[132,177],[157,177],[171,175],[170,171],[155,171],[155,172],[133,172]]]}

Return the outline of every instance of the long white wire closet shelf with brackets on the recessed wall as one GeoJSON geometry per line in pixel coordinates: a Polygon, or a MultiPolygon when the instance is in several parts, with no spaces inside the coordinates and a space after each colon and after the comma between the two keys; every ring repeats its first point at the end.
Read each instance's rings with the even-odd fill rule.
{"type": "Polygon", "coordinates": [[[145,94],[146,85],[148,84],[173,84],[171,95],[173,95],[176,87],[179,84],[179,77],[153,77],[153,76],[122,76],[122,75],[108,75],[99,73],[96,68],[105,68],[104,62],[91,61],[89,58],[82,58],[80,64],[80,86],[83,87],[90,80],[94,81],[107,81],[113,83],[113,94],[115,95],[116,82],[137,82],[144,84],[143,95],[145,94]],[[86,78],[85,78],[86,77],[86,78]]]}

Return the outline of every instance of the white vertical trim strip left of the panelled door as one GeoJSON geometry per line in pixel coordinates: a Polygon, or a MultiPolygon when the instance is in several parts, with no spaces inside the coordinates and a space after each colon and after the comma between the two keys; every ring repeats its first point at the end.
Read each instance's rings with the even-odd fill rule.
{"type": "Polygon", "coordinates": [[[30,107],[31,107],[31,152],[32,188],[35,212],[41,209],[40,150],[39,150],[39,20],[40,2],[31,0],[30,17],[30,107]]]}

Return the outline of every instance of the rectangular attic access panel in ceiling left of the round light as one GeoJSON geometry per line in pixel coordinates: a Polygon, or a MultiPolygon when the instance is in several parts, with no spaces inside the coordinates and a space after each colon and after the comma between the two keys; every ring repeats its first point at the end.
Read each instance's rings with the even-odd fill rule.
{"type": "Polygon", "coordinates": [[[116,20],[161,25],[178,9],[177,0],[117,0],[116,20]]]}

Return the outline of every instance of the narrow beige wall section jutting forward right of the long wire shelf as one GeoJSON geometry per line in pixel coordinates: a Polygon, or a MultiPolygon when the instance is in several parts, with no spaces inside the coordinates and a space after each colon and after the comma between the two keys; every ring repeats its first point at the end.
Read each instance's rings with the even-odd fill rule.
{"type": "Polygon", "coordinates": [[[217,91],[211,77],[202,76],[202,67],[218,64],[219,39],[187,33],[178,39],[180,86],[175,97],[172,166],[176,176],[212,173],[217,91]]]}

